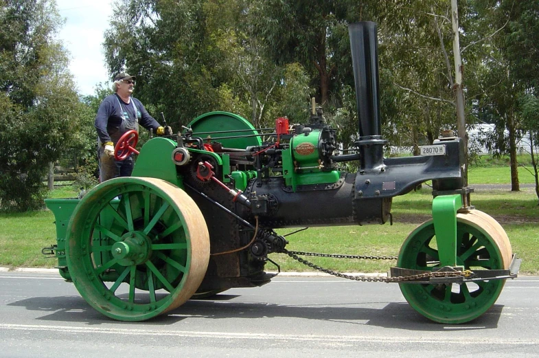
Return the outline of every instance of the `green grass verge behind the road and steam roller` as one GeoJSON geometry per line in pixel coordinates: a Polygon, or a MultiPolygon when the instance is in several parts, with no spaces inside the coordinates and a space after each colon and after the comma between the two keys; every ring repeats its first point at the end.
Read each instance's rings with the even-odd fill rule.
{"type": "MultiPolygon", "coordinates": [[[[51,194],[51,197],[56,197],[51,194]]],[[[61,196],[73,197],[67,192],[61,196]]],[[[432,196],[428,188],[393,199],[394,224],[314,227],[288,236],[293,251],[317,251],[338,254],[366,254],[394,256],[410,232],[422,221],[431,218],[432,196]]],[[[477,209],[498,220],[509,239],[513,251],[523,258],[521,273],[539,274],[539,207],[531,191],[477,192],[472,196],[477,209]]],[[[56,260],[43,258],[41,249],[56,243],[56,228],[51,212],[0,214],[0,266],[3,267],[54,267],[56,260]]],[[[293,229],[278,230],[279,234],[293,229]]],[[[284,271],[311,271],[309,267],[284,254],[272,254],[272,260],[284,271]]],[[[306,258],[322,267],[338,271],[385,272],[395,261],[343,260],[306,258]]],[[[268,262],[267,269],[273,269],[268,262]]]]}

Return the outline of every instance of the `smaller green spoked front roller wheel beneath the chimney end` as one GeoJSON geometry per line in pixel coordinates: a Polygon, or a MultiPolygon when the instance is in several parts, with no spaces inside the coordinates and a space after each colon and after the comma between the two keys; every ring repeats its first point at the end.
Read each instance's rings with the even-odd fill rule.
{"type": "MultiPolygon", "coordinates": [[[[491,216],[471,210],[457,214],[457,265],[465,269],[509,269],[512,251],[505,231],[491,216]]],[[[402,245],[398,267],[432,271],[439,267],[433,221],[418,226],[402,245]]],[[[459,324],[479,317],[496,302],[505,280],[461,284],[400,283],[406,301],[435,322],[459,324]]]]}

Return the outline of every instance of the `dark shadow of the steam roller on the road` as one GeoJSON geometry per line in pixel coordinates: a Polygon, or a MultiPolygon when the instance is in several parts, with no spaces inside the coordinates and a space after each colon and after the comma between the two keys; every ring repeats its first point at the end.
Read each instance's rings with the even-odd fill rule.
{"type": "MultiPolygon", "coordinates": [[[[437,324],[416,313],[406,302],[389,303],[381,309],[358,307],[358,304],[343,302],[338,306],[328,305],[291,305],[253,302],[230,302],[238,295],[220,294],[211,300],[190,300],[178,309],[167,315],[155,317],[144,322],[145,326],[163,326],[181,322],[186,318],[219,320],[229,318],[254,319],[286,317],[299,320],[326,320],[342,322],[343,324],[357,324],[379,326],[385,328],[399,328],[410,331],[463,331],[490,329],[498,326],[503,305],[494,304],[490,310],[467,324],[448,325],[437,324]]],[[[16,301],[8,306],[21,306],[32,311],[48,312],[48,315],[38,320],[55,322],[84,322],[89,325],[118,322],[105,317],[91,308],[81,297],[36,297],[16,301]]],[[[132,324],[125,322],[125,324],[132,324]]],[[[279,324],[279,322],[276,322],[279,324]]]]}

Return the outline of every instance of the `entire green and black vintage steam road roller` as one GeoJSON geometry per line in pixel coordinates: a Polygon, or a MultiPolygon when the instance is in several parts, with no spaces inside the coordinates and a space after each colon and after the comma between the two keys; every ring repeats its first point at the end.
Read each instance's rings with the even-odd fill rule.
{"type": "MultiPolygon", "coordinates": [[[[485,313],[520,260],[501,225],[470,203],[463,142],[441,137],[421,155],[385,158],[376,24],[351,24],[349,36],[358,106],[353,148],[339,150],[316,104],[303,124],[283,117],[275,128],[254,128],[232,113],[200,115],[146,142],[132,177],[104,181],[82,199],[47,200],[57,243],[45,254],[56,256],[60,275],[100,313],[143,321],[190,298],[270,282],[276,273],[264,267],[277,252],[335,276],[398,283],[413,309],[435,322],[485,313]],[[357,172],[344,170],[347,162],[357,172]],[[306,255],[332,255],[289,251],[274,231],[392,223],[392,198],[424,181],[433,183],[433,219],[413,230],[398,257],[383,257],[397,260],[388,277],[322,269],[306,255]]],[[[136,142],[136,132],[126,133],[115,155],[131,155],[136,142]]]]}

